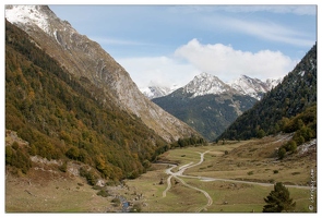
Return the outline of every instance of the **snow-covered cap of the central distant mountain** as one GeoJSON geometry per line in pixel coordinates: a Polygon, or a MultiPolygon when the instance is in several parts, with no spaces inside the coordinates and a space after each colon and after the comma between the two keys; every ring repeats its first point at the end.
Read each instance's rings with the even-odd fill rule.
{"type": "Polygon", "coordinates": [[[231,88],[220,81],[217,76],[201,73],[183,87],[183,92],[193,94],[192,97],[207,94],[222,94],[229,92],[231,88]]]}

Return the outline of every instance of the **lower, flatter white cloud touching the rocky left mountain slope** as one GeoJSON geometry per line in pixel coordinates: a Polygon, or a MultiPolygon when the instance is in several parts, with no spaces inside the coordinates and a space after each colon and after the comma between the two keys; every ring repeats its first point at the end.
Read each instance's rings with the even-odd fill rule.
{"type": "Polygon", "coordinates": [[[192,64],[181,63],[170,57],[121,58],[117,61],[140,88],[148,85],[183,86],[201,73],[192,64]]]}

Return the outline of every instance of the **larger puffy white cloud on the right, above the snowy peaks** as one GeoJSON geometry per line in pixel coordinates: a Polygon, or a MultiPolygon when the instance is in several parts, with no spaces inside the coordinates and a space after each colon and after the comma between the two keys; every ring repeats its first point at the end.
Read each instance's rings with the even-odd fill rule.
{"type": "Polygon", "coordinates": [[[198,39],[181,46],[175,55],[200,71],[212,73],[225,82],[240,74],[260,80],[283,77],[296,64],[296,61],[279,51],[261,50],[254,53],[235,50],[223,44],[202,45],[198,39]]]}

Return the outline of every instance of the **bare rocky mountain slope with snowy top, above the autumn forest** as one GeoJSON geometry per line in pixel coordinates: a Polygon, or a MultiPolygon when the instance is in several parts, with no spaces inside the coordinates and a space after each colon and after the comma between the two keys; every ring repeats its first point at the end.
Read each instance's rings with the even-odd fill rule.
{"type": "Polygon", "coordinates": [[[198,134],[189,125],[150,101],[136,87],[129,73],[97,43],[79,34],[46,5],[5,5],[9,22],[25,31],[34,44],[56,59],[84,86],[87,82],[103,94],[93,96],[103,105],[116,104],[139,117],[165,141],[198,134]]]}

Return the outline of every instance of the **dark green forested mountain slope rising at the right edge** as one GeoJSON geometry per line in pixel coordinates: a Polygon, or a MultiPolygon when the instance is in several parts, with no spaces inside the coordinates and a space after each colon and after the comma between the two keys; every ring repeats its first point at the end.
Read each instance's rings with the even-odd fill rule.
{"type": "MultiPolygon", "coordinates": [[[[310,112],[314,110],[310,108],[315,104],[317,45],[283,78],[282,83],[266,93],[252,109],[240,116],[218,138],[247,140],[289,131],[286,129],[296,130],[296,128],[287,128],[289,123],[294,124],[295,121],[289,121],[291,119],[296,120],[294,124],[296,126],[308,125],[311,122],[314,125],[317,114],[310,112]],[[305,118],[298,118],[299,114],[305,118]]],[[[317,128],[312,126],[312,130],[314,129],[317,128]]]]}

